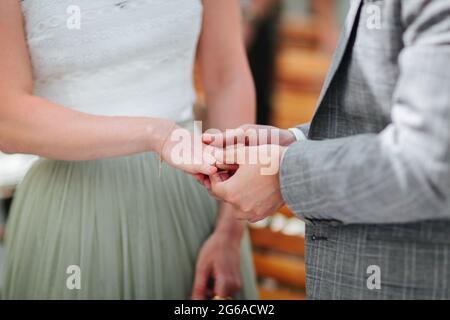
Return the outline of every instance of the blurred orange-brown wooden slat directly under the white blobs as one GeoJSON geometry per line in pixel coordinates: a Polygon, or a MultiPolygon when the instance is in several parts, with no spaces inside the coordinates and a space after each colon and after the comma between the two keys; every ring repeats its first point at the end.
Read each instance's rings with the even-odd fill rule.
{"type": "Polygon", "coordinates": [[[281,232],[273,232],[269,228],[250,229],[252,244],[256,248],[275,250],[303,257],[305,241],[300,236],[288,236],[281,232]]]}

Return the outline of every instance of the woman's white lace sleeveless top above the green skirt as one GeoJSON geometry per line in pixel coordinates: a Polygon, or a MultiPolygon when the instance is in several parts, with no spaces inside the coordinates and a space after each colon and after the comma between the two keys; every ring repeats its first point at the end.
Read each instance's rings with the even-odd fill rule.
{"type": "Polygon", "coordinates": [[[23,0],[22,10],[36,95],[98,115],[192,117],[201,0],[23,0]]]}

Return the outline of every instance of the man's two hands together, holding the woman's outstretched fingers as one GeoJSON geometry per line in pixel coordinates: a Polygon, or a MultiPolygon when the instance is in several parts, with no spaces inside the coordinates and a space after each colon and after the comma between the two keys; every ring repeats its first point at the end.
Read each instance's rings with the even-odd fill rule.
{"type": "Polygon", "coordinates": [[[284,204],[279,171],[287,146],[295,141],[289,131],[246,125],[204,134],[202,140],[217,169],[194,176],[213,197],[235,206],[239,219],[257,222],[284,204]]]}

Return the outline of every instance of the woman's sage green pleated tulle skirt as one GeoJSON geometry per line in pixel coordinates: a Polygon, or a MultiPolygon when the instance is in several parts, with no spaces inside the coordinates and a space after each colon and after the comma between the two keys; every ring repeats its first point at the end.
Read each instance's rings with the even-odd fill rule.
{"type": "MultiPolygon", "coordinates": [[[[153,153],[39,160],[21,183],[6,234],[3,299],[189,299],[217,203],[153,153]]],[[[242,290],[257,298],[248,235],[242,290]]]]}

